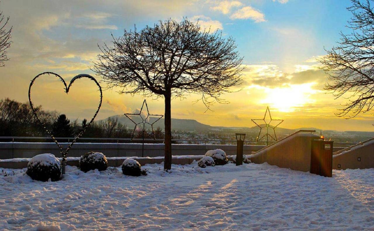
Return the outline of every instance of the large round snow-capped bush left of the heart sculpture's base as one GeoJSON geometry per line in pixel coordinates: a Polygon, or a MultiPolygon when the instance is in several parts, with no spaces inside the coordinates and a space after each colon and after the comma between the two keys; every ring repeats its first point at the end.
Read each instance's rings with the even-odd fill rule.
{"type": "Polygon", "coordinates": [[[27,164],[27,175],[33,180],[56,181],[61,177],[61,162],[53,154],[39,154],[27,164]]]}

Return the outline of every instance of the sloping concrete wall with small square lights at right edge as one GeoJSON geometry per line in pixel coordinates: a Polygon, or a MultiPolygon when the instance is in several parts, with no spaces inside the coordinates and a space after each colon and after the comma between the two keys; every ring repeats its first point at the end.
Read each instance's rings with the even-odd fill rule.
{"type": "Polygon", "coordinates": [[[333,169],[374,168],[374,142],[332,156],[333,169]],[[358,161],[360,158],[360,161],[358,161]],[[338,168],[340,164],[340,168],[338,168]]]}

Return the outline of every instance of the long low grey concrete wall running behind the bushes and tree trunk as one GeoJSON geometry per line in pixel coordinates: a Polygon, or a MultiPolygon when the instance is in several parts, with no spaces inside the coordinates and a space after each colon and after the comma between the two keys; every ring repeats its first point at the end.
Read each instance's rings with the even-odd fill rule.
{"type": "MultiPolygon", "coordinates": [[[[67,147],[66,143],[62,144],[67,147]]],[[[244,154],[251,154],[265,146],[245,145],[244,154]]],[[[204,155],[212,149],[222,149],[227,155],[236,155],[236,145],[172,145],[172,155],[204,155]]],[[[102,152],[107,157],[141,156],[141,144],[126,143],[75,143],[68,156],[80,157],[86,152],[102,152]]],[[[42,153],[52,153],[61,157],[60,151],[55,143],[0,143],[0,159],[32,158],[42,153]]],[[[144,144],[144,156],[164,156],[163,144],[144,144]]]]}

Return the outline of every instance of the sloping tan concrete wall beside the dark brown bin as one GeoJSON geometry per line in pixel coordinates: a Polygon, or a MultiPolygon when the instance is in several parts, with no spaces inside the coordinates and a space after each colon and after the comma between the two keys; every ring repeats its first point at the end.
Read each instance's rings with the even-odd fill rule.
{"type": "Polygon", "coordinates": [[[281,168],[298,171],[310,171],[310,152],[312,140],[318,139],[314,134],[295,134],[276,145],[264,149],[250,157],[257,164],[267,162],[281,168]]]}

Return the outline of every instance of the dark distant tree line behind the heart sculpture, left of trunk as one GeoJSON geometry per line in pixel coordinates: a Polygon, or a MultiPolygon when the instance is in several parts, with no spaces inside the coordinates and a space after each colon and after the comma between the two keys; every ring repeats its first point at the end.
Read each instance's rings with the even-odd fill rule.
{"type": "MultiPolygon", "coordinates": [[[[88,123],[87,119],[83,119],[81,123],[77,119],[70,121],[65,114],[43,110],[42,106],[36,107],[36,112],[55,137],[74,137],[88,123]]],[[[153,138],[149,135],[152,134],[151,131],[147,131],[147,133],[144,135],[145,139],[153,138]]],[[[156,139],[164,139],[161,128],[155,129],[154,134],[156,139]]],[[[132,128],[127,128],[126,124],[118,121],[118,118],[109,117],[98,122],[93,121],[86,128],[82,137],[131,138],[131,135],[132,128]]],[[[0,136],[47,137],[48,134],[33,114],[28,103],[5,98],[0,100],[0,136]]],[[[135,131],[134,138],[142,138],[142,131],[135,131]]],[[[80,142],[84,142],[84,140],[80,142]]],[[[92,140],[88,140],[88,142],[92,142],[92,140]]]]}

